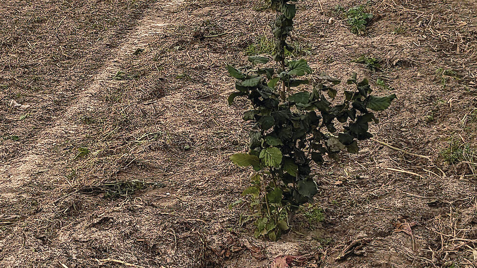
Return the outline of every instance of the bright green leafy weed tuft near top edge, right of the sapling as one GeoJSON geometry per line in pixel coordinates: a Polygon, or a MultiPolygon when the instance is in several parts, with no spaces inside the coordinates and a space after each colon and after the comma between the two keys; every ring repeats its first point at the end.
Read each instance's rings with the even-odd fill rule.
{"type": "Polygon", "coordinates": [[[364,35],[366,33],[366,26],[373,19],[373,14],[366,12],[366,5],[351,7],[347,11],[345,11],[344,7],[337,5],[335,9],[338,13],[344,14],[350,31],[355,35],[364,35]]]}

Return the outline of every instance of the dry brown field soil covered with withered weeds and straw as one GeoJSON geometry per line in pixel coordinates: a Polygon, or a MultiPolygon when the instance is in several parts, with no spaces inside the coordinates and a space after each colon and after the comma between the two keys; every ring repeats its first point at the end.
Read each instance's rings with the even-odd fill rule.
{"type": "Polygon", "coordinates": [[[475,0],[373,2],[363,36],[337,4],[364,2],[298,1],[296,54],[398,99],[270,242],[229,209],[250,125],[225,64],[269,49],[262,2],[0,0],[0,266],[476,267],[475,0]]]}

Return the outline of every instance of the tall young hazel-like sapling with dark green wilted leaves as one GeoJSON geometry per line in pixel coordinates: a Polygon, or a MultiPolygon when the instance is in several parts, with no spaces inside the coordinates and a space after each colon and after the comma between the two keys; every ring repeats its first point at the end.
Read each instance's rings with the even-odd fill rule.
{"type": "Polygon", "coordinates": [[[249,149],[230,159],[253,170],[251,186],[242,195],[251,201],[255,235],[271,240],[289,229],[290,212],[313,201],[318,188],[311,174],[312,162],[323,165],[325,157],[337,159],[343,150],[358,153],[358,140],[372,137],[369,123],[378,122],[372,111],[387,109],[396,98],[394,94],[371,95],[368,80],[358,80],[354,73],[347,81],[352,88],[344,91],[341,102],[329,101],[336,98],[334,86],[341,81],[322,73],[311,82],[307,62],[286,57],[297,12],[289,2],[272,0],[277,13],[272,25],[276,63],[269,64],[268,57],[251,56],[241,68],[227,65],[237,89],[228,97],[229,105],[236,97],[248,98],[252,107],[242,118],[253,124],[249,149]]]}

